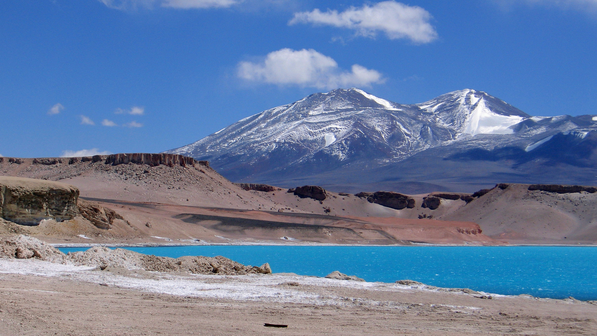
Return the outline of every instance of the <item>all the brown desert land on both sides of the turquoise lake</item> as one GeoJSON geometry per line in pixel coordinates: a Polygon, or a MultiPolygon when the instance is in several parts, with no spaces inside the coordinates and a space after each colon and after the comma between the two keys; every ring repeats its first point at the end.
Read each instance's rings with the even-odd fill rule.
{"type": "Polygon", "coordinates": [[[173,259],[105,247],[64,255],[50,245],[590,245],[597,240],[591,233],[592,187],[498,184],[475,194],[347,194],[316,186],[235,184],[207,162],[158,156],[0,161],[0,334],[597,331],[597,304],[574,298],[496,295],[404,279],[372,283],[341,274],[298,276],[223,257],[173,259]],[[129,158],[136,162],[126,162],[129,158]]]}

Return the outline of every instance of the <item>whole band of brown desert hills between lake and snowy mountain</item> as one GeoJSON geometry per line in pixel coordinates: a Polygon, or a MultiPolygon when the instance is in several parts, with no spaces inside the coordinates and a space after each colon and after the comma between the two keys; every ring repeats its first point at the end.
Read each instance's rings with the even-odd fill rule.
{"type": "Polygon", "coordinates": [[[124,220],[115,220],[109,230],[80,217],[60,223],[50,219],[31,227],[5,223],[1,232],[27,233],[54,243],[116,245],[597,242],[597,193],[590,187],[561,192],[500,184],[474,194],[425,195],[374,190],[348,194],[319,188],[301,194],[262,184],[235,184],[208,162],[191,158],[186,160],[192,164],[134,159],[143,155],[2,158],[1,175],[75,186],[82,201],[114,209],[124,220]]]}

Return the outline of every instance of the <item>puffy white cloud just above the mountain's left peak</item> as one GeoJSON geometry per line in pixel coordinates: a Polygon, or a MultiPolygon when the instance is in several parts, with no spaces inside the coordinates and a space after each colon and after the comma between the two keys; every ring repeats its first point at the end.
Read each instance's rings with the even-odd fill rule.
{"type": "Polygon", "coordinates": [[[240,62],[238,76],[247,81],[328,89],[369,87],[385,81],[381,73],[359,64],[346,71],[340,69],[333,58],[313,49],[290,48],[272,51],[259,63],[240,62]]]}

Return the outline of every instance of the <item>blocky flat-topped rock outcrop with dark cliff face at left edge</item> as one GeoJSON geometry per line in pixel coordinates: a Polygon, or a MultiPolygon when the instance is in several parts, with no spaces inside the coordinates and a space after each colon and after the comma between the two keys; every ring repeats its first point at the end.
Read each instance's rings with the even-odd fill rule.
{"type": "Polygon", "coordinates": [[[41,220],[70,220],[78,214],[79,189],[35,178],[0,176],[0,216],[36,226],[41,220]]]}

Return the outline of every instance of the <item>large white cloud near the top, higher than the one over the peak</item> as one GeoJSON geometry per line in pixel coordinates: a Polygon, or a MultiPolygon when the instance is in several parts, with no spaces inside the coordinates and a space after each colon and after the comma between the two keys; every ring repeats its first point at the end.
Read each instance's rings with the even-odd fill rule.
{"type": "Polygon", "coordinates": [[[386,33],[389,39],[407,38],[416,43],[429,43],[438,33],[429,23],[431,14],[418,6],[396,1],[383,1],[361,8],[350,7],[337,10],[294,13],[288,24],[313,23],[356,30],[357,35],[374,37],[377,31],[386,33]]]}

